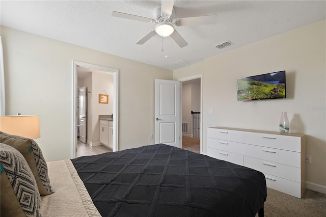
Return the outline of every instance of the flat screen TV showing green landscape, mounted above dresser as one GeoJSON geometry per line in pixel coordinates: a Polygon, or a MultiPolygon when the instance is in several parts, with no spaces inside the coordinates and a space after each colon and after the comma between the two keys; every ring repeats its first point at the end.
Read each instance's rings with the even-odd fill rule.
{"type": "Polygon", "coordinates": [[[285,71],[238,78],[238,101],[286,98],[285,86],[285,71]]]}

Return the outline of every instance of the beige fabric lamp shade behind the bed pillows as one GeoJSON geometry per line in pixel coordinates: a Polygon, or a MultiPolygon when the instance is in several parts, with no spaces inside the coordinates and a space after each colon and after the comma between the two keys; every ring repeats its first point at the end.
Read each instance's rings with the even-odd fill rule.
{"type": "Polygon", "coordinates": [[[0,131],[29,139],[41,137],[39,116],[0,116],[0,131]]]}

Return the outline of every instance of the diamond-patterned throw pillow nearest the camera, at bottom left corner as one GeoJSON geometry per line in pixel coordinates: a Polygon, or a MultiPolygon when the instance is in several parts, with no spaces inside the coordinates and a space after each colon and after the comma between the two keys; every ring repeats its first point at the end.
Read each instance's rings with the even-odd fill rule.
{"type": "Polygon", "coordinates": [[[0,143],[1,216],[41,216],[41,197],[25,158],[0,143]],[[9,182],[9,184],[8,184],[9,182]]]}

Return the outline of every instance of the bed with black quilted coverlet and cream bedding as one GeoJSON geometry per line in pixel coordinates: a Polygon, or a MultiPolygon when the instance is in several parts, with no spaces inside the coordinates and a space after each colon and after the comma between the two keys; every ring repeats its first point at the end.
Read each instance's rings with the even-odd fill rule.
{"type": "Polygon", "coordinates": [[[267,196],[261,172],[164,144],[46,169],[42,216],[263,216],[267,196]]]}

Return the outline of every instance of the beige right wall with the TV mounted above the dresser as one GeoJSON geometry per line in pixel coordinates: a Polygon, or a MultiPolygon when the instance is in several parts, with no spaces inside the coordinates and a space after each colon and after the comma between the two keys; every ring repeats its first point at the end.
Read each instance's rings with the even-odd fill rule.
{"type": "Polygon", "coordinates": [[[175,70],[174,79],[203,72],[204,153],[207,127],[278,131],[285,111],[290,132],[307,135],[307,183],[326,190],[325,47],[323,20],[175,70]],[[237,78],[281,70],[286,70],[286,99],[237,101],[237,78]],[[208,115],[209,108],[213,115],[208,115]]]}

